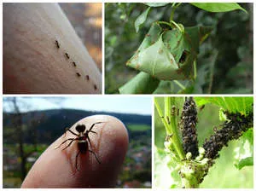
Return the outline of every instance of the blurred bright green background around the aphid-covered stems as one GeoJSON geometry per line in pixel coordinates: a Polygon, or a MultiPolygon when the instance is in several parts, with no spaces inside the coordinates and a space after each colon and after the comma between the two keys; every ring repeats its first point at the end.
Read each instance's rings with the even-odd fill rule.
{"type": "MultiPolygon", "coordinates": [[[[164,98],[160,97],[154,99],[157,99],[160,103],[160,107],[164,109],[164,98]]],[[[178,108],[181,114],[184,98],[176,99],[178,99],[178,108]]],[[[212,135],[213,127],[222,123],[219,121],[218,109],[219,107],[217,106],[207,104],[201,111],[198,111],[198,124],[196,129],[199,147],[202,146],[206,138],[212,135]]],[[[157,188],[169,188],[169,185],[172,183],[172,177],[166,164],[166,154],[162,152],[164,150],[165,138],[165,127],[161,123],[156,109],[154,109],[154,183],[157,188]]],[[[219,153],[220,157],[215,160],[216,164],[210,168],[200,188],[253,188],[253,166],[246,166],[239,171],[233,164],[234,149],[238,147],[240,143],[239,140],[229,142],[228,148],[225,147],[221,150],[219,153]]]]}

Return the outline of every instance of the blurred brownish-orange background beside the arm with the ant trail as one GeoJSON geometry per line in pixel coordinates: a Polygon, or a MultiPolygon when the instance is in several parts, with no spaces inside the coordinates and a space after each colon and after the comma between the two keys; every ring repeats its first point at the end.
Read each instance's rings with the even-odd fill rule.
{"type": "Polygon", "coordinates": [[[59,3],[90,56],[102,70],[102,3],[59,3]]]}

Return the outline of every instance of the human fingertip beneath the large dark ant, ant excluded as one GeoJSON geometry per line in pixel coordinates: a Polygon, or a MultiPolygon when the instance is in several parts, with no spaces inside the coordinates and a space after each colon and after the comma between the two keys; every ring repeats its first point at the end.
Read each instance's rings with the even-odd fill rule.
{"type": "Polygon", "coordinates": [[[89,134],[91,146],[89,149],[96,153],[100,160],[90,153],[81,153],[78,158],[78,169],[75,161],[78,153],[77,142],[73,142],[65,150],[68,138],[75,138],[68,132],[62,135],[39,157],[28,172],[21,188],[114,188],[117,176],[128,148],[128,134],[125,125],[112,116],[94,115],[79,120],[70,130],[77,132],[77,124],[90,125],[96,122],[89,134]],[[61,148],[56,148],[61,145],[61,148]]]}

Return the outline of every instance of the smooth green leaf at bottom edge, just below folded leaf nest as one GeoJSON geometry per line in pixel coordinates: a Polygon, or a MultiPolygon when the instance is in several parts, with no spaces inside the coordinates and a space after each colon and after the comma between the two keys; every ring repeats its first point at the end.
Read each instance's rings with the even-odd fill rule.
{"type": "Polygon", "coordinates": [[[160,81],[148,73],[139,72],[135,78],[119,88],[120,94],[152,94],[160,81]]]}

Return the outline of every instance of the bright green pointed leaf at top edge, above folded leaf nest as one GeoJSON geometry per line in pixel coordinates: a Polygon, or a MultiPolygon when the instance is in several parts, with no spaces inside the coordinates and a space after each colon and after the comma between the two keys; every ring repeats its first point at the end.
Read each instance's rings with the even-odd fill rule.
{"type": "Polygon", "coordinates": [[[191,3],[197,8],[204,9],[209,12],[227,12],[236,9],[241,9],[247,13],[247,11],[238,3],[191,3]]]}

